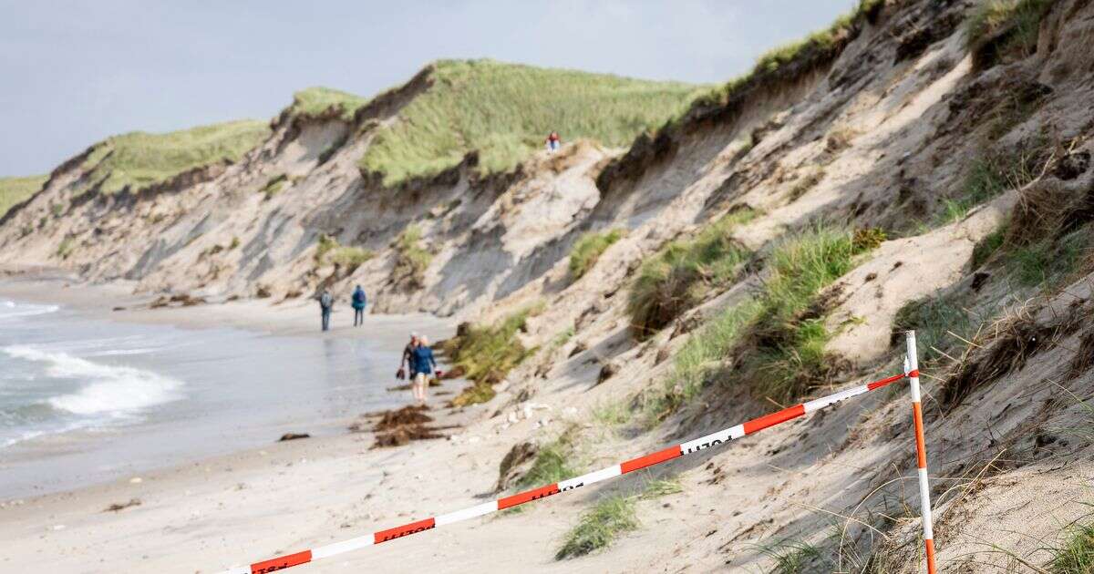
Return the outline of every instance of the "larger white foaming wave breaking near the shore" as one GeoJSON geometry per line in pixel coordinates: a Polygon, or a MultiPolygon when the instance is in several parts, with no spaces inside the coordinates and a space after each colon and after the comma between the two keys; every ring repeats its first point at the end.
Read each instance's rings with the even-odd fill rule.
{"type": "Polygon", "coordinates": [[[55,409],[74,414],[123,417],[176,400],[181,380],[131,366],[104,365],[63,352],[50,352],[26,345],[0,349],[10,356],[46,365],[46,374],[85,384],[75,393],[50,397],[55,409]]]}

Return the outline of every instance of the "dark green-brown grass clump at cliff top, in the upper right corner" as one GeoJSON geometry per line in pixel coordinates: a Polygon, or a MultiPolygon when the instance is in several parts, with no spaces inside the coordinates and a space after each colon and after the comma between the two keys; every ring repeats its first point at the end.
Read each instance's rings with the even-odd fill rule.
{"type": "Polygon", "coordinates": [[[1055,0],[982,0],[965,21],[966,47],[980,68],[1037,50],[1040,21],[1055,0]]]}

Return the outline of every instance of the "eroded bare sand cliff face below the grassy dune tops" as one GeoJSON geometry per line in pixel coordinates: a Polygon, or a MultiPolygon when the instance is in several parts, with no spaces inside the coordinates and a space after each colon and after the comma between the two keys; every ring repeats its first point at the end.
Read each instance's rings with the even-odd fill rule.
{"type": "MultiPolygon", "coordinates": [[[[629,150],[574,142],[557,155],[529,159],[516,173],[485,179],[470,169],[473,156],[396,189],[358,169],[372,129],[398,121],[399,107],[424,78],[359,110],[352,121],[282,115],[270,139],[238,163],[190,174],[147,197],[73,204],[54,218],[50,206],[66,200],[82,176],[79,162],[69,162],[0,226],[0,258],[72,267],[92,280],[136,279],[139,290],[151,292],[261,291],[281,298],[306,296],[321,284],[348,293],[361,283],[381,312],[424,309],[475,320],[539,303],[543,311],[520,335],[537,352],[509,374],[487,407],[467,411],[476,446],[454,441],[429,447],[431,460],[459,459],[452,480],[474,484],[458,495],[465,500],[434,501],[445,503],[434,508],[443,512],[477,500],[512,444],[543,435],[545,425],[554,434],[566,422],[586,423],[596,407],[629,401],[668,379],[673,361],[666,359],[699,332],[701,319],[756,289],[765,256],[788,232],[818,220],[884,227],[887,241],[822,294],[834,333],[826,351],[847,363],[830,384],[898,370],[894,323],[901,307],[921,297],[959,297],[967,314],[992,308],[1006,317],[979,333],[967,356],[952,358],[961,359],[953,372],[924,379],[936,544],[946,572],[996,572],[1017,563],[990,544],[1044,564],[1046,544],[1038,540],[1055,540],[1060,525],[1086,514],[1079,503],[1094,478],[1089,436],[1060,441],[1068,429],[1090,424],[1078,402],[1094,393],[1090,255],[1082,254],[1087,262],[1063,284],[1049,288],[1022,285],[975,251],[1008,221],[1006,233],[1019,233],[1015,222],[1032,218],[1027,208],[1040,207],[1045,197],[1070,207],[1029,233],[1090,229],[1083,225],[1094,219],[1094,3],[1055,2],[1031,54],[994,60],[982,46],[969,52],[962,22],[971,4],[882,2],[830,50],[720,104],[697,106],[629,150]],[[1003,178],[1002,189],[958,210],[970,172],[997,157],[1033,169],[1003,178]],[[260,191],[282,174],[283,189],[260,191]],[[636,342],[626,295],[641,261],[743,207],[757,216],[734,238],[755,250],[756,265],[636,342]],[[36,226],[42,218],[49,225],[36,226]],[[431,254],[418,278],[395,272],[398,238],[409,224],[431,254]],[[34,231],[23,233],[26,226],[34,231]],[[571,246],[587,231],[608,229],[627,234],[573,280],[571,246]],[[375,255],[351,270],[317,262],[322,234],[375,255]],[[66,241],[75,248],[61,258],[66,241]],[[571,338],[551,344],[570,329],[571,338]],[[616,368],[604,376],[607,364],[616,368]],[[491,418],[529,399],[556,413],[568,407],[577,413],[545,424],[491,418]]],[[[1004,40],[999,35],[989,44],[1004,40]]],[[[527,557],[491,549],[523,528],[522,542],[540,540],[527,548],[535,554],[531,563],[559,571],[768,569],[772,544],[793,540],[838,555],[837,565],[806,557],[804,571],[913,572],[913,450],[908,405],[897,396],[872,396],[659,470],[678,475],[687,494],[672,509],[647,504],[642,516],[655,528],[587,559],[552,562],[542,539],[560,536],[560,519],[536,511],[528,519],[477,524],[461,532],[458,549],[455,538],[440,532],[449,546],[431,548],[431,532],[400,541],[409,553],[384,550],[350,560],[383,570],[458,557],[466,570],[519,570],[527,557]]],[[[746,389],[712,385],[655,430],[606,432],[590,440],[582,456],[596,468],[772,408],[746,389]]],[[[395,472],[409,481],[419,467],[395,472]]],[[[440,480],[429,480],[433,492],[443,490],[440,480]]],[[[621,480],[571,502],[544,504],[573,517],[600,493],[633,487],[621,480]]],[[[258,520],[261,512],[253,514],[258,520]]],[[[314,531],[278,535],[270,550],[328,541],[324,520],[330,522],[313,517],[314,531]]]]}

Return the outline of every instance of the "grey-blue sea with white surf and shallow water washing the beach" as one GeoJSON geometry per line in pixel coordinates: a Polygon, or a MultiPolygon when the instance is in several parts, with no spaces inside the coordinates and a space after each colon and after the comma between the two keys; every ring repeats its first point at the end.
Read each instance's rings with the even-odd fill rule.
{"type": "Polygon", "coordinates": [[[398,407],[401,333],[282,337],[93,318],[0,296],[0,501],[345,433],[398,407]]]}

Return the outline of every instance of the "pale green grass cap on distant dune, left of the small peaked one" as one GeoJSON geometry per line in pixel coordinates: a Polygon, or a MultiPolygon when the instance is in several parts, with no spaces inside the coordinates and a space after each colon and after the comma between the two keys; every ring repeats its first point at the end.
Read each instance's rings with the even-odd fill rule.
{"type": "Polygon", "coordinates": [[[168,133],[135,131],[97,143],[84,165],[102,194],[162,183],[187,169],[236,162],[270,133],[265,121],[241,120],[168,133]]]}

